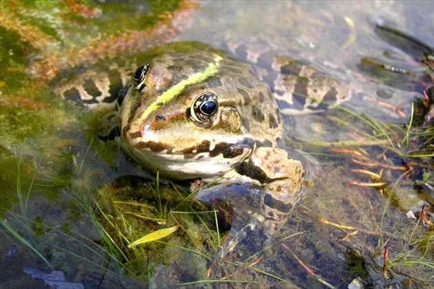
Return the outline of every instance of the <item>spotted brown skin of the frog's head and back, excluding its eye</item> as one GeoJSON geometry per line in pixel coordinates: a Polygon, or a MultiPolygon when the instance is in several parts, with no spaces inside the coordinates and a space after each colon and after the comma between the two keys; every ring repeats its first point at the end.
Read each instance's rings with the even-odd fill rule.
{"type": "MultiPolygon", "coordinates": [[[[134,155],[139,158],[141,150],[162,152],[164,143],[167,143],[165,152],[169,152],[172,162],[184,163],[185,152],[189,152],[188,159],[191,160],[194,151],[198,152],[197,155],[207,154],[197,159],[198,163],[207,162],[209,158],[226,159],[223,166],[227,169],[219,169],[219,172],[231,170],[233,166],[242,163],[253,152],[256,141],[276,146],[282,134],[282,120],[276,117],[276,101],[272,97],[264,97],[271,94],[266,83],[256,75],[242,71],[253,73],[251,66],[246,63],[202,50],[167,54],[155,59],[144,88],[130,88],[122,103],[119,127],[125,143],[130,150],[136,151],[134,155]],[[179,66],[179,63],[187,64],[179,66]],[[194,63],[194,66],[191,63],[194,63]],[[154,66],[158,71],[154,72],[154,66]],[[161,66],[165,69],[162,70],[161,66]],[[238,73],[234,72],[234,67],[237,67],[238,73]],[[211,72],[203,77],[202,74],[206,74],[208,69],[211,72]],[[159,78],[172,81],[158,81],[159,78]],[[183,82],[186,79],[194,81],[183,82]],[[169,96],[172,90],[176,92],[169,96]],[[192,119],[189,108],[200,95],[207,92],[218,97],[219,116],[211,123],[200,123],[192,119]],[[164,98],[161,95],[164,95],[164,98]],[[257,117],[251,117],[252,110],[256,111],[257,117]],[[188,133],[176,133],[178,131],[188,133]],[[231,141],[220,141],[225,138],[231,141]],[[254,144],[243,143],[246,138],[254,139],[254,144]],[[200,149],[204,147],[203,143],[209,143],[205,151],[200,149]],[[231,151],[228,154],[230,158],[224,157],[225,150],[215,150],[220,143],[236,143],[236,148],[226,148],[231,151]],[[234,150],[237,151],[236,154],[234,150]],[[216,155],[216,151],[220,152],[220,156],[216,155]],[[230,163],[229,166],[227,163],[230,163]]],[[[142,161],[146,162],[149,152],[145,152],[145,155],[142,161]]],[[[218,161],[214,166],[219,166],[218,161]]],[[[163,175],[175,178],[180,175],[165,166],[159,165],[157,168],[163,175]]],[[[189,179],[200,177],[206,181],[214,181],[223,177],[206,175],[202,166],[197,168],[198,170],[190,168],[184,172],[183,178],[187,175],[189,179]]]]}

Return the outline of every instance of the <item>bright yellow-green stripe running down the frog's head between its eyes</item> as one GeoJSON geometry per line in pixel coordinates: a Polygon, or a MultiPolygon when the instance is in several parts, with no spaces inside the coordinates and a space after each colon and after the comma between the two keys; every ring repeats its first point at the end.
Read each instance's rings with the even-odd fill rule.
{"type": "Polygon", "coordinates": [[[176,97],[176,95],[178,95],[185,88],[185,86],[193,83],[198,83],[205,80],[207,77],[215,74],[217,72],[218,65],[220,64],[220,61],[222,61],[222,59],[223,57],[221,57],[220,55],[214,54],[214,63],[209,63],[208,67],[205,70],[190,75],[187,79],[176,83],[174,86],[172,86],[172,88],[163,92],[163,94],[157,97],[156,101],[154,101],[154,103],[152,103],[145,110],[145,112],[143,112],[140,118],[141,121],[149,117],[149,114],[151,114],[154,110],[160,107],[161,103],[166,103],[167,101],[170,101],[171,99],[176,97]]]}

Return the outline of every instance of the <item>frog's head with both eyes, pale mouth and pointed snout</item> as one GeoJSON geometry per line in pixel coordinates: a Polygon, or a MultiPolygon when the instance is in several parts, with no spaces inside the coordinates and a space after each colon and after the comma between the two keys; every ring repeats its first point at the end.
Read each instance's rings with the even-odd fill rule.
{"type": "Polygon", "coordinates": [[[169,177],[212,179],[251,155],[256,141],[222,80],[229,77],[223,61],[214,53],[172,54],[136,70],[118,126],[138,161],[169,177]]]}

